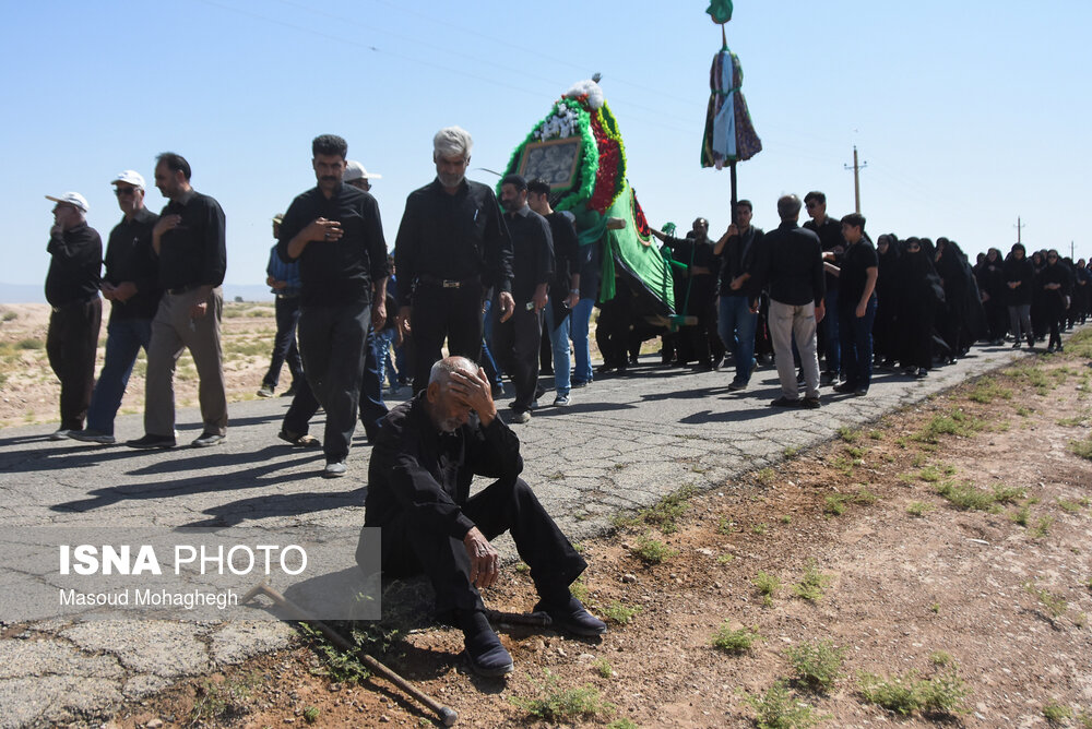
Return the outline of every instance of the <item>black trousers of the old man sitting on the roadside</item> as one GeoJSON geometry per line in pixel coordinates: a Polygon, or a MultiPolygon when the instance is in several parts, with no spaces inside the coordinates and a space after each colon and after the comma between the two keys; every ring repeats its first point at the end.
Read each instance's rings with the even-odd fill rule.
{"type": "MultiPolygon", "coordinates": [[[[511,531],[515,549],[527,566],[539,595],[557,594],[587,567],[554,519],[522,478],[499,480],[470,498],[465,514],[485,535],[495,539],[511,531]]],[[[382,527],[384,577],[428,576],[436,590],[440,614],[451,610],[482,610],[482,595],[471,584],[471,562],[461,539],[422,529],[405,515],[382,527]]],[[[357,551],[364,549],[361,541],[357,551]]],[[[357,557],[357,562],[363,560],[357,557]]]]}

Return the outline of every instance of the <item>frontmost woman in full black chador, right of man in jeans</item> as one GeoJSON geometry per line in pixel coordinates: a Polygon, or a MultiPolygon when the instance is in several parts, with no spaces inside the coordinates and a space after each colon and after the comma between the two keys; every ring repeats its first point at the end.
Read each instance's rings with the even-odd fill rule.
{"type": "Polygon", "coordinates": [[[897,289],[903,350],[899,359],[906,374],[924,378],[933,367],[933,323],[945,301],[940,276],[933,265],[928,238],[907,238],[899,253],[897,289]]]}

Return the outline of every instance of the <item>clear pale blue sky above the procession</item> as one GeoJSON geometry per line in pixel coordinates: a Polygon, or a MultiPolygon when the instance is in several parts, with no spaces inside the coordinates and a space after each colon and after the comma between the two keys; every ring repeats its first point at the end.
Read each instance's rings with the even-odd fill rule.
{"type": "MultiPolygon", "coordinates": [[[[109,181],[186,156],[227,214],[230,284],[261,284],[270,218],[314,184],[310,140],[348,140],[379,172],[388,246],[405,196],[429,182],[430,140],[458,123],[473,167],[502,169],[569,85],[603,74],[629,178],[650,222],[728,223],[728,175],[699,167],[709,64],[721,45],[705,2],[175,0],[8,3],[0,26],[0,282],[39,284],[51,203],[91,203],[104,239],[120,213],[109,181]]],[[[739,166],[755,224],[811,189],[862,212],[875,237],[948,236],[1008,250],[1092,255],[1087,33],[1092,2],[737,0],[739,55],[764,151],[739,166]],[[1085,50],[1081,50],[1084,48],[1085,50]]],[[[496,178],[475,170],[486,182],[496,178]]],[[[155,211],[157,190],[147,195],[155,211]]]]}

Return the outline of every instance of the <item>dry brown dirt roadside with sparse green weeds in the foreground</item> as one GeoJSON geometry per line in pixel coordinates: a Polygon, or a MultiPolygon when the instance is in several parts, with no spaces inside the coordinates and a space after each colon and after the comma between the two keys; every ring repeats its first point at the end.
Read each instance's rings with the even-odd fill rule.
{"type": "MultiPolygon", "coordinates": [[[[394,635],[383,660],[459,726],[797,727],[805,706],[830,727],[1092,726],[1090,381],[1085,331],[1065,355],[621,519],[581,545],[580,587],[610,632],[502,626],[507,681],[467,674],[446,629],[394,635]],[[722,628],[735,652],[713,647],[722,628]],[[834,657],[829,690],[794,668],[807,648],[812,669],[834,657]]],[[[529,610],[531,582],[509,570],[486,600],[529,610]]],[[[387,682],[341,668],[309,647],[272,654],[122,706],[107,726],[432,724],[387,682]]]]}

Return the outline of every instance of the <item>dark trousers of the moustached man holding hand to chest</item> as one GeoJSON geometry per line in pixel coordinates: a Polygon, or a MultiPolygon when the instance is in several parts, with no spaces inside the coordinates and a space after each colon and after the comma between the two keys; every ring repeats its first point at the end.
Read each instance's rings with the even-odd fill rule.
{"type": "MultiPolygon", "coordinates": [[[[313,399],[327,411],[322,451],[328,463],[343,461],[353,442],[370,323],[371,306],[363,301],[340,307],[304,307],[299,314],[304,374],[313,399]]],[[[295,406],[293,399],[289,411],[295,406]]],[[[310,415],[314,415],[313,409],[310,415]]],[[[288,425],[287,417],[285,427],[296,434],[307,432],[306,420],[301,432],[288,425]]]]}

